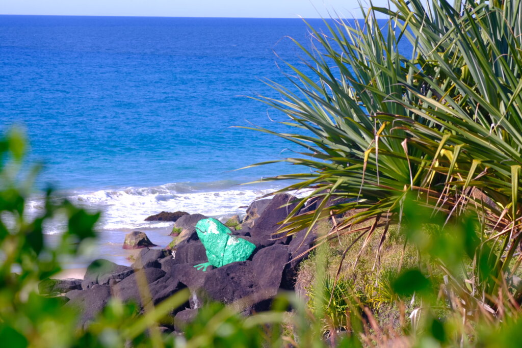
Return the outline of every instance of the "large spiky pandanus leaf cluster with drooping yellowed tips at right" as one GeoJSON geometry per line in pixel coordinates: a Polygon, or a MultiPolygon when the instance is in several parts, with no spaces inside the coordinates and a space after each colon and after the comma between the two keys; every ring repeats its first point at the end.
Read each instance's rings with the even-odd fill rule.
{"type": "MultiPolygon", "coordinates": [[[[292,88],[269,82],[281,98],[262,100],[288,115],[295,131],[260,130],[299,145],[298,155],[282,161],[311,169],[266,179],[298,179],[281,191],[308,190],[281,232],[310,231],[321,219],[359,209],[321,240],[357,233],[369,241],[384,226],[384,241],[412,195],[448,221],[477,212],[477,259],[503,274],[518,267],[522,238],[522,4],[391,3],[396,10],[361,9],[363,21],[311,27],[312,48],[296,42],[306,68],[288,65],[292,88]],[[376,12],[388,16],[384,25],[376,12]],[[409,57],[399,53],[404,40],[409,57]],[[296,214],[311,201],[316,209],[296,214]]],[[[496,287],[484,284],[488,293],[496,287]]]]}

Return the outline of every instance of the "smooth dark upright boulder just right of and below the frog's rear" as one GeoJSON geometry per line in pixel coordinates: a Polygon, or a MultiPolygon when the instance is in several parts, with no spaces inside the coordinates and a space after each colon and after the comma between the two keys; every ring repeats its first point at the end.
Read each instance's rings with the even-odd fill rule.
{"type": "Polygon", "coordinates": [[[277,294],[284,268],[290,258],[288,245],[276,244],[259,250],[252,258],[257,282],[271,296],[277,294]]]}

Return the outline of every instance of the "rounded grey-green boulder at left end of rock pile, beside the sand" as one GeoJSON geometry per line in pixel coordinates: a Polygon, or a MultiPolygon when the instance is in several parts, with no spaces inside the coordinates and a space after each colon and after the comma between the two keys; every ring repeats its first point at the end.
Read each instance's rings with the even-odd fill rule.
{"type": "Polygon", "coordinates": [[[85,272],[81,288],[86,290],[94,284],[109,284],[109,281],[122,280],[133,273],[133,269],[127,266],[116,265],[116,263],[105,259],[98,259],[91,262],[85,272]]]}

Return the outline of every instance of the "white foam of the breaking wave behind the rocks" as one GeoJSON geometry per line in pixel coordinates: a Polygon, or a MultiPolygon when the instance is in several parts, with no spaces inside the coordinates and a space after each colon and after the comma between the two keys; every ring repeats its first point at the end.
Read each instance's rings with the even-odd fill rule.
{"type": "MultiPolygon", "coordinates": [[[[203,185],[167,184],[157,187],[126,187],[97,191],[75,191],[65,195],[68,200],[91,211],[101,211],[98,230],[160,229],[172,222],[145,221],[161,211],[186,211],[214,218],[244,214],[255,199],[274,191],[275,187],[232,186],[216,182],[203,185]]],[[[34,215],[43,208],[41,198],[28,204],[34,215]]],[[[55,234],[65,229],[64,219],[55,219],[45,226],[45,233],[55,234]]]]}

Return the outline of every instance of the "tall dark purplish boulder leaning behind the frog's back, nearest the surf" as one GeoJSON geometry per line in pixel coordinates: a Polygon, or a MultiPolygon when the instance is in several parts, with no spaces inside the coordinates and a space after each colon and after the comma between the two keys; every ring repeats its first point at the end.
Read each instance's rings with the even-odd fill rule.
{"type": "Polygon", "coordinates": [[[281,227],[279,222],[287,218],[297,203],[286,207],[281,206],[288,204],[294,199],[294,196],[288,194],[274,196],[260,217],[257,218],[252,230],[250,230],[252,238],[257,240],[263,247],[272,244],[288,244],[291,237],[280,237],[274,235],[274,233],[281,227]]]}

